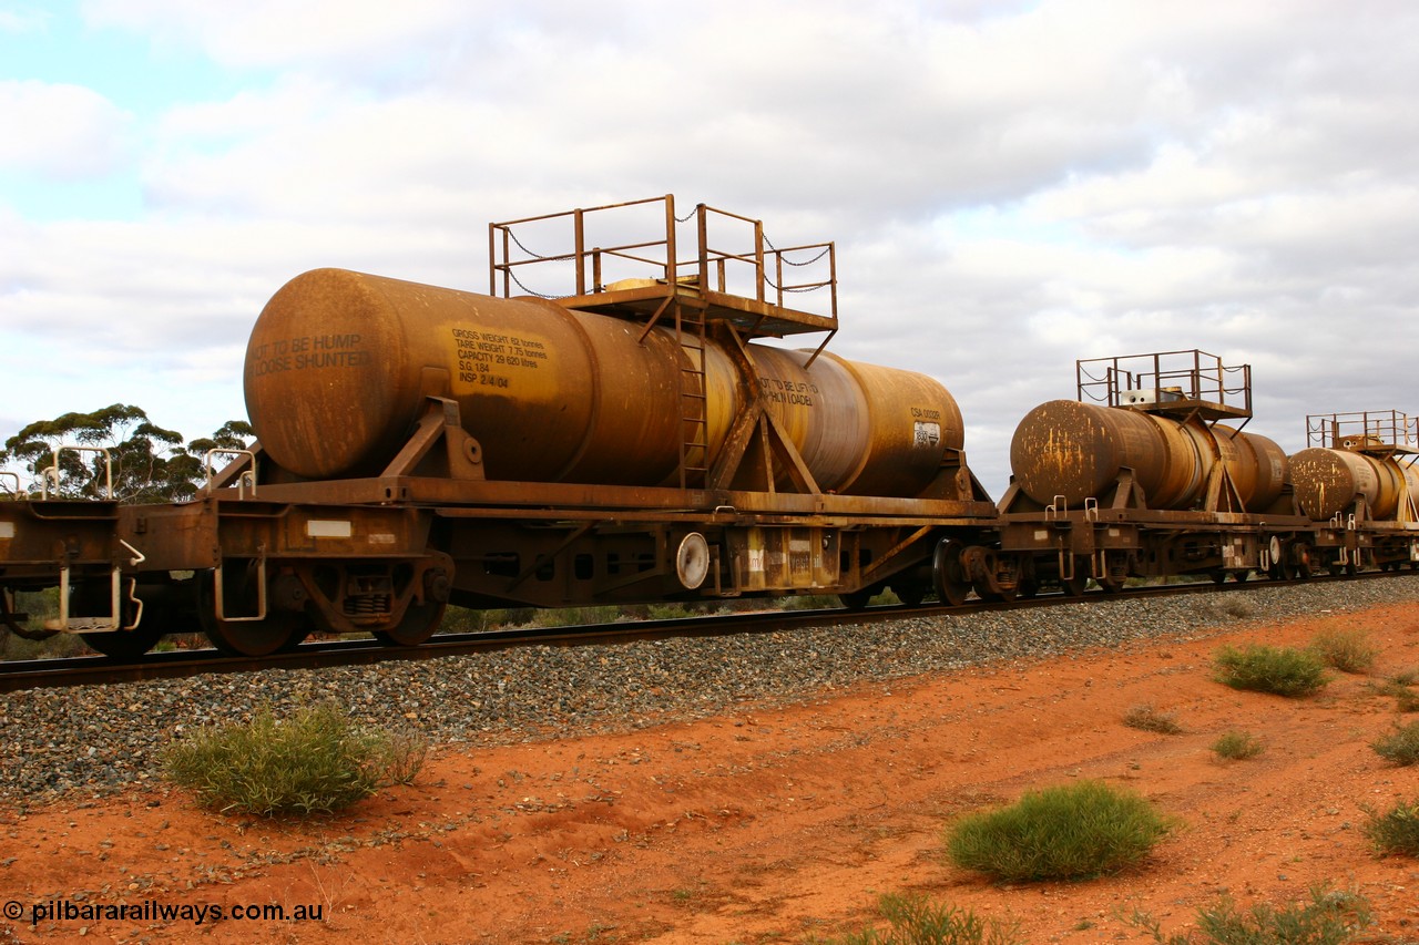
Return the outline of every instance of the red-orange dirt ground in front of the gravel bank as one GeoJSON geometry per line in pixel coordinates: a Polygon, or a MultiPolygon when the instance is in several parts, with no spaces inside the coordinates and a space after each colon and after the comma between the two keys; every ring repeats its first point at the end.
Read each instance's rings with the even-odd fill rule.
{"type": "Polygon", "coordinates": [[[0,942],[802,942],[861,929],[881,892],[1013,917],[1029,942],[1142,942],[1121,918],[1134,907],[1176,932],[1223,892],[1280,904],[1315,883],[1368,898],[1359,941],[1419,942],[1419,861],[1376,857],[1361,831],[1366,807],[1419,796],[1419,769],[1369,748],[1416,718],[1374,684],[1415,667],[1419,603],[446,751],[414,786],[319,822],[216,814],[176,790],[0,810],[0,898],[24,910],[0,942]],[[1222,643],[1303,646],[1341,626],[1382,648],[1372,675],[1304,700],[1209,678],[1222,643]],[[1147,704],[1185,731],[1122,724],[1147,704]],[[1218,761],[1227,729],[1267,751],[1218,761]],[[1076,778],[1131,788],[1183,826],[1142,867],[1086,883],[999,885],[942,860],[952,816],[1076,778]],[[228,917],[31,925],[55,900],[228,917]],[[247,904],[322,915],[230,917],[247,904]]]}

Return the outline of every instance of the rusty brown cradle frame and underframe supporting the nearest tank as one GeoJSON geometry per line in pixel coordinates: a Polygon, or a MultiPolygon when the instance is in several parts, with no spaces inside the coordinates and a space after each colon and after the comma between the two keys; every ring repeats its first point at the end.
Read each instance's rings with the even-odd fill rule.
{"type": "MultiPolygon", "coordinates": [[[[221,545],[223,559],[260,558],[272,573],[294,573],[307,586],[314,583],[309,572],[341,568],[331,558],[368,563],[373,549],[358,546],[362,536],[377,536],[382,556],[410,570],[406,585],[417,585],[423,556],[437,546],[450,559],[440,565],[450,576],[448,602],[553,607],[807,590],[851,595],[893,582],[905,590],[902,572],[929,558],[945,531],[995,516],[995,505],[958,451],[928,490],[932,498],[785,491],[773,468],[792,443],[775,433],[763,411],[752,431],[739,468],[762,475],[761,488],[505,482],[481,475],[481,446],[463,429],[458,404],[430,397],[406,448],[376,477],[338,482],[258,477],[255,497],[241,499],[231,485],[251,464],[241,458],[217,477],[206,498],[183,508],[190,524],[146,532],[158,541],[203,534],[199,543],[221,545]],[[219,534],[255,505],[288,524],[244,539],[219,534]],[[393,522],[404,516],[417,525],[396,531],[393,522]],[[312,548],[311,521],[339,521],[339,536],[353,543],[332,546],[322,538],[312,548]],[[399,541],[390,541],[396,534],[399,541]],[[289,541],[291,535],[298,539],[289,541]],[[708,558],[705,573],[694,580],[683,566],[687,542],[704,542],[708,558]],[[329,555],[315,551],[326,548],[329,555]]],[[[260,470],[260,444],[253,453],[260,470]]],[[[790,481],[812,487],[812,477],[805,478],[790,481]]],[[[172,558],[190,553],[175,551],[172,558]]],[[[911,580],[929,586],[929,575],[914,573],[911,580]]],[[[417,589],[413,595],[412,602],[421,603],[417,589]]],[[[301,606],[324,614],[324,623],[355,629],[339,627],[336,616],[350,607],[335,596],[311,595],[301,606]]]]}

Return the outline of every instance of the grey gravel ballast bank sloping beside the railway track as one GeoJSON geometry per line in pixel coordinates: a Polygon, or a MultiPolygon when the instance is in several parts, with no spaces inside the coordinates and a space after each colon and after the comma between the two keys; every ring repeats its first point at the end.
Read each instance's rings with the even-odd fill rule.
{"type": "Polygon", "coordinates": [[[155,785],[159,751],[194,726],[333,700],[370,725],[412,725],[434,745],[624,731],[820,695],[867,681],[1252,621],[1419,599],[1419,576],[1071,603],[951,617],[616,646],[534,646],[475,657],[268,670],[33,690],[0,704],[0,802],[101,796],[155,785]]]}

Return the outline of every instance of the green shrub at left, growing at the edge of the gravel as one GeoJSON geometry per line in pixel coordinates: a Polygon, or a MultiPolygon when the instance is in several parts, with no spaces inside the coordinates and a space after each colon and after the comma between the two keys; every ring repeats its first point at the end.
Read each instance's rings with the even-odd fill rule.
{"type": "Polygon", "coordinates": [[[260,816],[333,812],[409,783],[427,755],[420,735],[362,729],[333,702],[277,721],[261,708],[250,722],[203,728],[163,752],[163,768],[199,802],[260,816]]]}

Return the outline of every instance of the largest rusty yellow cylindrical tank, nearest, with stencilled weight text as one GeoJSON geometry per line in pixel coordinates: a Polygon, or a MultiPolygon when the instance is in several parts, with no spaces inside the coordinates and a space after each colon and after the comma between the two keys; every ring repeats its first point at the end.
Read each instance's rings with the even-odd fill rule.
{"type": "MultiPolygon", "coordinates": [[[[305,478],[377,474],[427,396],[458,402],[490,478],[607,485],[675,480],[681,379],[697,365],[657,326],[346,270],[298,275],[251,332],[245,400],[263,448],[305,478]]],[[[964,424],[938,382],[822,355],[748,346],[766,407],[823,490],[918,494],[964,424]]],[[[697,360],[697,359],[695,359],[697,360]]],[[[694,375],[688,375],[694,376],[694,375]]],[[[705,349],[711,465],[745,379],[705,349]]],[[[698,458],[698,457],[697,457],[698,458]]]]}

